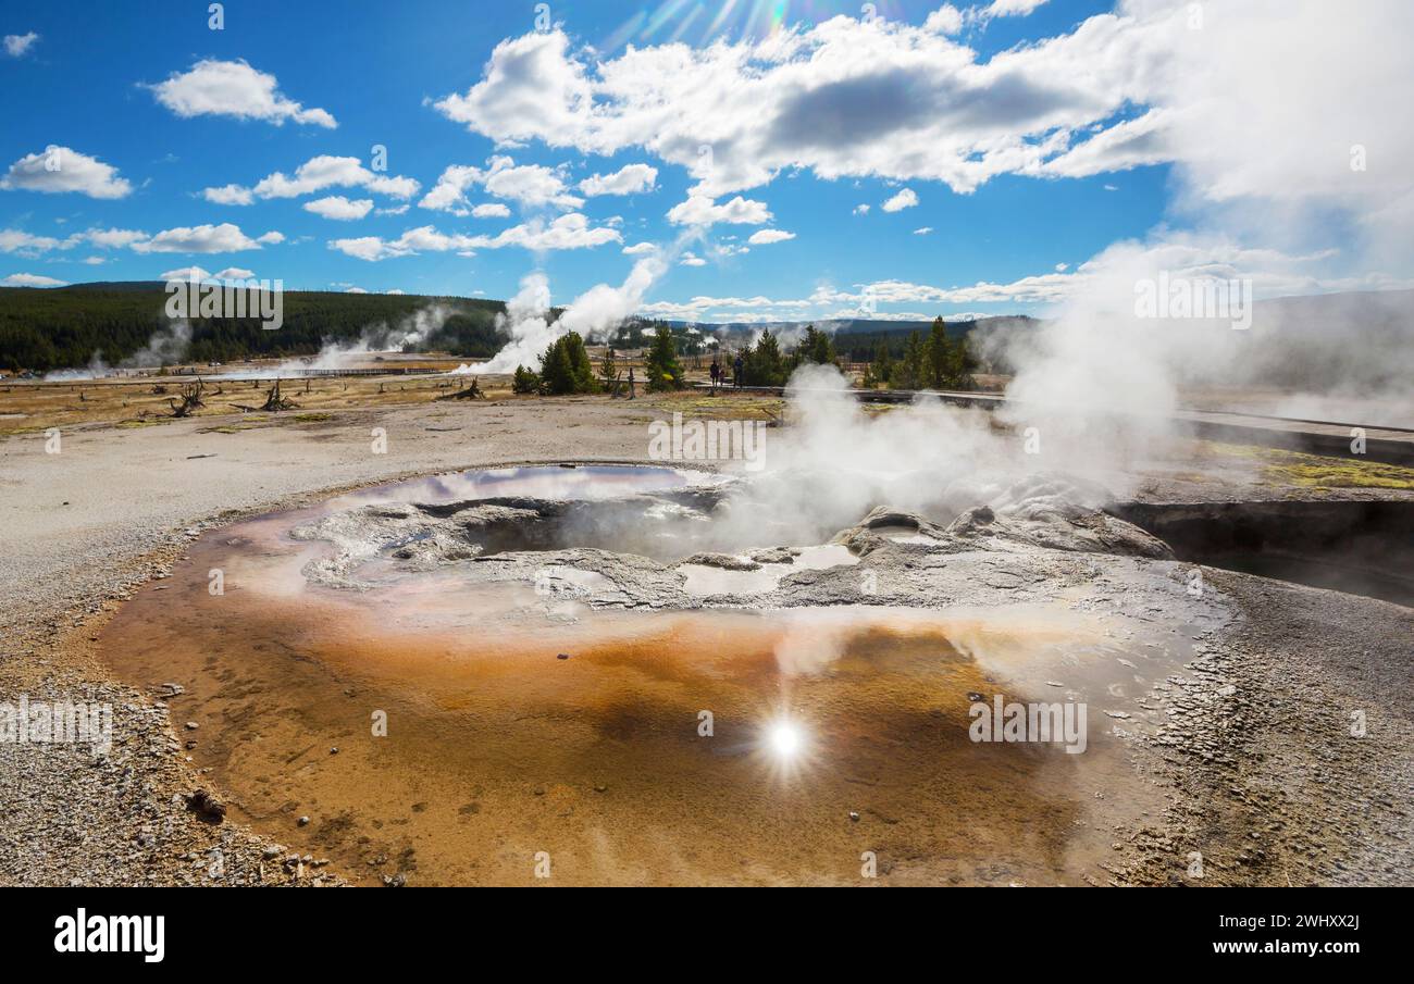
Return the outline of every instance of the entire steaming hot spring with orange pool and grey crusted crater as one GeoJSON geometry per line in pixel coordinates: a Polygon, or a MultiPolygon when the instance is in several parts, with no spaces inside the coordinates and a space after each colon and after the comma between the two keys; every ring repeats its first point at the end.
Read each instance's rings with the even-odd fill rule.
{"type": "Polygon", "coordinates": [[[103,646],[180,681],[232,819],[355,881],[1164,881],[1185,845],[1145,831],[1192,793],[1162,756],[1241,765],[1216,737],[1249,707],[1239,612],[1100,499],[843,465],[441,475],[208,533],[103,646]]]}

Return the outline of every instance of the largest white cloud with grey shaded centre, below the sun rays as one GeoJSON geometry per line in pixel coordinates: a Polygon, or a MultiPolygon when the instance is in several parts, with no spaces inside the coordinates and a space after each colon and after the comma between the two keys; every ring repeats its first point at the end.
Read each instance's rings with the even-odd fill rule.
{"type": "Polygon", "coordinates": [[[980,59],[950,37],[960,25],[945,7],[922,25],[834,17],[766,38],[612,57],[574,48],[560,30],[533,33],[502,41],[479,81],[434,105],[502,143],[642,148],[686,168],[693,194],[708,199],[797,167],[970,192],[998,174],[1035,171],[1072,133],[1144,103],[1171,47],[1150,17],[1102,14],[980,59]]]}

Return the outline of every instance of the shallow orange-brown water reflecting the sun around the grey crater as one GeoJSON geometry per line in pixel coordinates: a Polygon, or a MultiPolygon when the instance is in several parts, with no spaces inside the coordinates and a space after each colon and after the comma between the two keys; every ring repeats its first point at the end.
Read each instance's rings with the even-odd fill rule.
{"type": "Polygon", "coordinates": [[[1096,615],[591,611],[457,566],[339,591],[300,575],[327,544],[288,537],[349,505],[601,481],[693,476],[443,476],[216,530],[124,605],[103,650],[140,687],[185,689],[173,720],[201,725],[178,734],[233,819],[355,879],[530,884],[544,851],[567,884],[855,884],[871,851],[891,884],[1077,884],[1103,877],[1116,823],[1161,809],[1102,707],[1182,653],[1118,642],[1096,615]],[[1089,701],[1089,748],[976,744],[969,694],[1089,701]],[[782,720],[793,755],[772,751],[782,720]]]}

